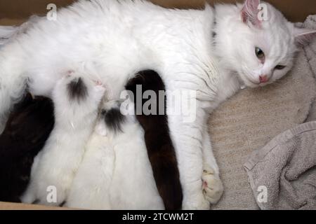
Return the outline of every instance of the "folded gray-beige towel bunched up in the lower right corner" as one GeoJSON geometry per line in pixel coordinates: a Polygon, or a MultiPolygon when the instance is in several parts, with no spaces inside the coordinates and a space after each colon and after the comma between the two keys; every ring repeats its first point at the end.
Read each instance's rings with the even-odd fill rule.
{"type": "Polygon", "coordinates": [[[316,121],[279,134],[244,167],[261,209],[316,209],[316,121]]]}

